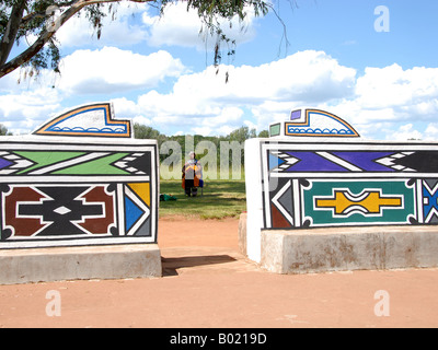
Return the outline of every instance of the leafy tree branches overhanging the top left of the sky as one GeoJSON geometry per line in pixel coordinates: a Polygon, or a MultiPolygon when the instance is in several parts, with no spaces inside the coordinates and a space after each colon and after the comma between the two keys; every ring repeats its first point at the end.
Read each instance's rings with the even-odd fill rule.
{"type": "MultiPolygon", "coordinates": [[[[58,71],[60,52],[58,43],[54,35],[71,16],[82,9],[87,11],[87,18],[96,30],[100,38],[102,32],[102,19],[112,13],[110,9],[100,8],[103,3],[117,3],[122,0],[13,0],[8,1],[8,5],[0,8],[0,78],[14,71],[19,67],[31,66],[38,72],[39,69],[48,67],[58,71]],[[107,11],[107,12],[105,12],[107,11]],[[9,59],[14,43],[28,34],[37,36],[37,39],[16,57],[9,59]]],[[[255,16],[265,15],[273,11],[283,23],[272,4],[265,0],[128,0],[129,2],[149,3],[160,9],[161,15],[165,7],[176,2],[184,2],[187,10],[197,11],[198,18],[203,22],[203,31],[208,31],[210,35],[216,35],[215,66],[222,57],[221,44],[227,45],[228,56],[235,52],[235,42],[229,38],[222,31],[219,18],[232,21],[238,16],[242,23],[249,9],[254,11],[255,16]]],[[[288,0],[292,1],[292,0],[288,0]]],[[[295,1],[295,0],[293,0],[295,1]]],[[[114,15],[114,13],[113,13],[114,15]]],[[[113,16],[114,20],[114,16],[113,16]]],[[[230,22],[231,23],[231,22],[230,22]]],[[[284,25],[284,38],[286,45],[288,39],[286,26],[284,25]]],[[[207,36],[208,37],[208,36],[207,36]]]]}

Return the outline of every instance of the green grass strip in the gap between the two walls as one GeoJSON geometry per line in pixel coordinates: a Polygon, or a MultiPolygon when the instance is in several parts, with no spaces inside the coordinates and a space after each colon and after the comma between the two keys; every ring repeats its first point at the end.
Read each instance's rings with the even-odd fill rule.
{"type": "Polygon", "coordinates": [[[244,180],[206,180],[204,195],[187,197],[181,180],[161,180],[160,192],[172,195],[176,200],[160,201],[160,217],[184,215],[200,219],[239,217],[246,210],[244,180]]]}

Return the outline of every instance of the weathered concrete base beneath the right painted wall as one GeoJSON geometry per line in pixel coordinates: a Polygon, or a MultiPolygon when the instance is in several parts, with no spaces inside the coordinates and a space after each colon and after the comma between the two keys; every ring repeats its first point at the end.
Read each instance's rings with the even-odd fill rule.
{"type": "Polygon", "coordinates": [[[438,267],[438,226],[263,230],[261,266],[277,273],[438,267]]]}

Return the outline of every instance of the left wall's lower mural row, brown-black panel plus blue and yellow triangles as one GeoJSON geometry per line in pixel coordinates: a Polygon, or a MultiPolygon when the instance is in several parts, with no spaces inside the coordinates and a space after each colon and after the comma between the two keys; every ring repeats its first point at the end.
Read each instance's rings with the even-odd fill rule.
{"type": "Polygon", "coordinates": [[[151,235],[149,183],[9,185],[0,196],[1,241],[151,235]]]}

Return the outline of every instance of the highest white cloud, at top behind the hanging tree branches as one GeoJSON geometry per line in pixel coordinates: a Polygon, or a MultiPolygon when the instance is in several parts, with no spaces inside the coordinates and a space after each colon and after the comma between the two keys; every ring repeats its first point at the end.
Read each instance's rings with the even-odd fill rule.
{"type": "MultiPolygon", "coordinates": [[[[108,14],[103,18],[100,39],[81,11],[57,32],[56,37],[61,47],[126,47],[147,43],[153,47],[182,46],[204,50],[212,48],[216,43],[216,37],[205,31],[197,11],[187,11],[184,2],[169,4],[162,16],[151,14],[151,8],[147,3],[122,1],[117,4],[102,4],[102,12],[111,13],[110,7],[116,9],[115,16],[108,14]]],[[[231,25],[218,19],[223,33],[238,45],[255,37],[254,20],[252,9],[247,10],[242,22],[238,18],[232,19],[231,25]]]]}

